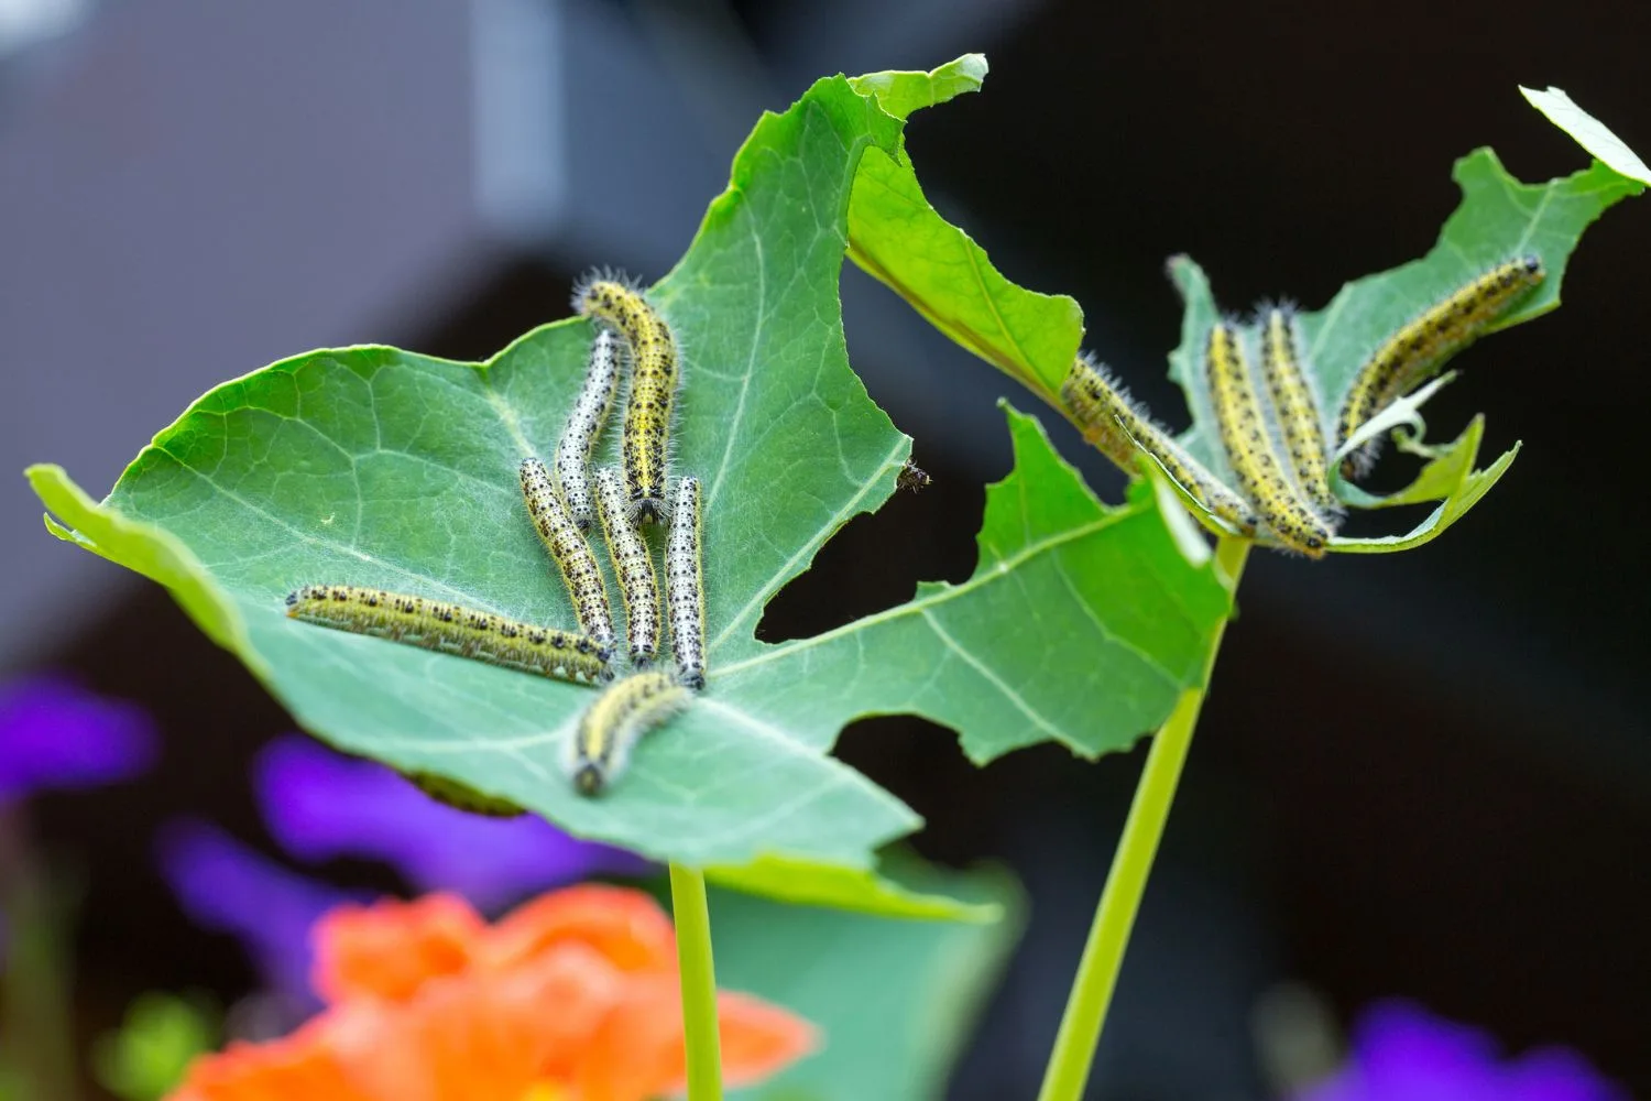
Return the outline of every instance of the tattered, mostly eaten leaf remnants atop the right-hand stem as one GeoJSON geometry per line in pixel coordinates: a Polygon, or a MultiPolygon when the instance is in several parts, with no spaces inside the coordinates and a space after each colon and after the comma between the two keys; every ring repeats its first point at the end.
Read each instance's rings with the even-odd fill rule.
{"type": "MultiPolygon", "coordinates": [[[[967,61],[964,58],[953,66],[964,66],[967,61]]],[[[934,81],[933,87],[925,84],[931,74],[921,73],[887,73],[860,81],[911,111],[974,91],[986,74],[984,66],[974,66],[969,69],[974,79],[964,81],[951,73],[953,66],[938,71],[946,73],[948,79],[934,81]]],[[[1306,366],[1326,404],[1329,424],[1334,423],[1359,366],[1388,335],[1494,264],[1535,253],[1549,272],[1547,281],[1502,317],[1496,328],[1530,320],[1559,305],[1565,264],[1583,229],[1613,203],[1643,190],[1638,178],[1630,178],[1643,172],[1643,165],[1610,130],[1563,99],[1562,92],[1559,97],[1554,92],[1526,94],[1583,147],[1608,157],[1615,168],[1595,163],[1570,177],[1527,185],[1511,177],[1488,149],[1459,160],[1455,178],[1463,190],[1463,201],[1425,258],[1349,282],[1322,310],[1301,315],[1306,366]],[[1630,175],[1623,175],[1625,172],[1630,175]]],[[[862,187],[855,188],[849,208],[849,256],[948,337],[997,365],[1058,409],[1060,383],[1083,335],[1078,305],[1067,297],[1019,287],[992,267],[986,253],[963,229],[941,218],[923,196],[903,147],[895,155],[867,155],[860,175],[862,187]]],[[[1243,310],[1247,304],[1217,304],[1204,271],[1189,258],[1174,258],[1171,276],[1185,300],[1182,343],[1169,357],[1169,373],[1185,391],[1192,419],[1182,442],[1232,482],[1200,365],[1215,319],[1227,310],[1243,310]]],[[[1250,324],[1245,330],[1251,348],[1256,347],[1255,325],[1250,324]]],[[[1486,357],[1481,352],[1474,360],[1483,361],[1486,357]]],[[[1128,371],[1119,373],[1128,385],[1128,371]]],[[[1478,437],[1474,454],[1476,444],[1478,437]]],[[[1514,452],[1509,451],[1491,469],[1469,472],[1471,477],[1440,479],[1438,472],[1425,475],[1426,480],[1405,490],[1405,497],[1443,500],[1428,520],[1403,536],[1336,540],[1331,550],[1379,553],[1407,550],[1435,538],[1483,497],[1512,457],[1514,452]],[[1440,495],[1417,497],[1423,492],[1422,485],[1440,490],[1440,495]]],[[[1352,507],[1369,507],[1370,499],[1360,492],[1344,492],[1342,500],[1352,507]]],[[[1205,520],[1220,527],[1207,513],[1205,520]]]]}

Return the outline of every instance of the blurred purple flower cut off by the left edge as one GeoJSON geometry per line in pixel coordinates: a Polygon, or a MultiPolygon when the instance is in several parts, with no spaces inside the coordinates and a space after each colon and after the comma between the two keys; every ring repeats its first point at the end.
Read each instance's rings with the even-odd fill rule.
{"type": "Polygon", "coordinates": [[[31,677],[0,687],[0,804],[48,787],[96,787],[155,759],[155,728],[142,708],[31,677]]]}

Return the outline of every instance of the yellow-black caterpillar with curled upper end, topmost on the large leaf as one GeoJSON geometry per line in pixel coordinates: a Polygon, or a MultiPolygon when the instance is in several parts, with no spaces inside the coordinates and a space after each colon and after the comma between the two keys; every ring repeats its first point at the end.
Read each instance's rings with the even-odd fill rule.
{"type": "Polygon", "coordinates": [[[575,292],[584,317],[603,320],[631,345],[621,461],[631,513],[639,523],[665,522],[665,461],[670,404],[677,395],[677,338],[639,291],[617,279],[588,279],[575,292]]]}

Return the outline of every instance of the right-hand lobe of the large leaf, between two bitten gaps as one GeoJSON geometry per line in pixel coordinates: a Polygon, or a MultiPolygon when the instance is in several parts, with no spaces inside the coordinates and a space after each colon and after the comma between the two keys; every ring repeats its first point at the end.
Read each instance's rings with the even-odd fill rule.
{"type": "Polygon", "coordinates": [[[1058,741],[1086,758],[1156,728],[1202,683],[1230,596],[1194,566],[1151,492],[1101,505],[1042,424],[1009,409],[1014,472],[987,487],[981,558],[961,584],[723,667],[774,721],[918,713],[958,730],[976,763],[1058,741]],[[1105,703],[1100,703],[1105,702],[1105,703]],[[806,718],[804,718],[806,716],[806,718]]]}

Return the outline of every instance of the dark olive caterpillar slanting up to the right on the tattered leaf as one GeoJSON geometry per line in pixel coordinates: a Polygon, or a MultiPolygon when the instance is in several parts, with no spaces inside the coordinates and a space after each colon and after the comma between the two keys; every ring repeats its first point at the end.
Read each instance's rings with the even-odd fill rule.
{"type": "MultiPolygon", "coordinates": [[[[1445,360],[1473,343],[1486,325],[1545,277],[1540,256],[1506,261],[1451,291],[1388,337],[1354,376],[1352,390],[1347,391],[1337,418],[1337,449],[1365,421],[1415,390],[1445,360]]],[[[1369,472],[1375,452],[1377,441],[1370,441],[1347,456],[1342,474],[1355,477],[1369,472]]]]}

